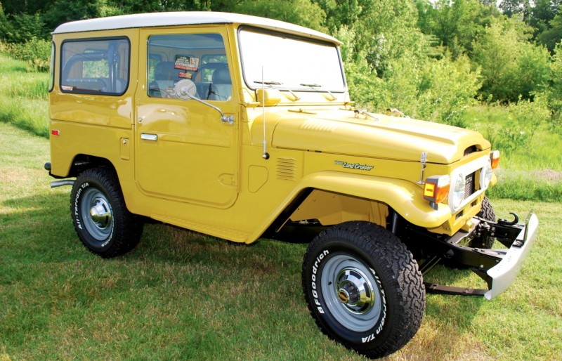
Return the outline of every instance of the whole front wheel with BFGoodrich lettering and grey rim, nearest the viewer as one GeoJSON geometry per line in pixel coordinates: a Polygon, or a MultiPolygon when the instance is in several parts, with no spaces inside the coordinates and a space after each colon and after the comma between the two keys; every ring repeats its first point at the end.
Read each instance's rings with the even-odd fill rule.
{"type": "Polygon", "coordinates": [[[304,256],[302,286],[322,332],[368,357],[402,348],[424,317],[416,261],[372,223],[341,223],[317,235],[304,256]]]}

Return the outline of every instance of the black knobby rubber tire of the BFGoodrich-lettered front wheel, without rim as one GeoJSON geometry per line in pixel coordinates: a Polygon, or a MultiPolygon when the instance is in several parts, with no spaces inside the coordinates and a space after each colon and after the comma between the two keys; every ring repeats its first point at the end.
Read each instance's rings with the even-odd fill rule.
{"type": "MultiPolygon", "coordinates": [[[[364,250],[372,257],[372,260],[380,265],[379,277],[387,283],[386,294],[388,306],[388,320],[385,327],[391,327],[387,339],[376,348],[358,350],[353,344],[342,342],[348,348],[352,348],[367,357],[384,357],[405,346],[416,334],[425,312],[426,293],[423,285],[423,277],[419,272],[417,262],[405,244],[388,230],[374,223],[351,221],[334,225],[320,233],[309,244],[303,260],[302,287],[307,295],[306,265],[314,259],[315,251],[331,239],[346,239],[346,242],[364,250]],[[391,288],[388,285],[392,284],[391,288]],[[393,288],[393,289],[392,289],[393,288]]],[[[334,338],[327,332],[322,320],[315,313],[315,306],[310,297],[306,296],[308,310],[322,332],[334,338]]]]}

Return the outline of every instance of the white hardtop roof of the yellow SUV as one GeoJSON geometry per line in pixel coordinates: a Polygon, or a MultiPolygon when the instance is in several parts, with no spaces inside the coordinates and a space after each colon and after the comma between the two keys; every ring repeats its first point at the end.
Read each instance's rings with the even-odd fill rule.
{"type": "Polygon", "coordinates": [[[341,44],[341,41],[313,29],[294,25],[289,22],[260,18],[258,16],[235,13],[216,13],[209,11],[178,11],[171,13],[144,13],[134,15],[118,15],[108,18],[97,18],[66,22],[59,25],[53,34],[67,32],[90,32],[94,30],[128,29],[136,27],[162,27],[173,25],[202,25],[202,24],[246,24],[265,29],[288,31],[303,37],[321,39],[341,44]]]}

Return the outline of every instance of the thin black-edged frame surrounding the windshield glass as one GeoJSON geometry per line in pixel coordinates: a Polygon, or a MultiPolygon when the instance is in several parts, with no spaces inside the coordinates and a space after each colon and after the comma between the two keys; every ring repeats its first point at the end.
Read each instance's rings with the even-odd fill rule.
{"type": "Polygon", "coordinates": [[[343,65],[343,61],[341,59],[341,52],[339,49],[339,44],[335,44],[331,41],[322,41],[319,39],[311,39],[311,38],[306,38],[306,37],[301,37],[295,34],[289,34],[287,32],[277,32],[274,30],[268,30],[268,29],[262,29],[260,27],[254,27],[251,25],[242,25],[240,27],[238,27],[237,29],[237,42],[238,42],[238,53],[240,56],[240,68],[242,70],[242,79],[244,80],[244,83],[246,84],[246,86],[248,88],[250,88],[251,90],[256,90],[258,88],[262,88],[263,86],[266,86],[267,88],[276,88],[279,89],[280,91],[303,91],[303,92],[329,92],[329,93],[345,93],[347,91],[347,81],[346,81],[346,75],[344,72],[344,65],[343,65]],[[265,81],[265,84],[261,84],[261,77],[258,81],[258,79],[248,79],[247,78],[247,72],[245,70],[244,67],[244,52],[242,51],[242,39],[240,37],[240,33],[241,32],[254,32],[254,33],[259,33],[259,34],[266,34],[266,35],[270,35],[273,37],[280,37],[280,38],[287,38],[287,39],[293,39],[296,41],[302,41],[303,43],[309,43],[309,44],[318,44],[318,45],[322,45],[322,46],[328,46],[329,48],[335,48],[336,50],[336,54],[338,57],[338,62],[339,62],[339,74],[341,74],[341,82],[342,82],[342,87],[341,88],[327,88],[325,86],[311,86],[314,84],[300,84],[299,86],[294,86],[294,84],[276,84],[276,81],[278,81],[279,79],[263,79],[263,81],[265,81]]]}

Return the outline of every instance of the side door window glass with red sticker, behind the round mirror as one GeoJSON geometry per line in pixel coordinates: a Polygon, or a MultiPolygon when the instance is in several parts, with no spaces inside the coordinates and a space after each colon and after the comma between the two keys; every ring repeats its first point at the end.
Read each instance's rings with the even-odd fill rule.
{"type": "Polygon", "coordinates": [[[148,38],[148,96],[175,98],[174,86],[191,79],[198,98],[227,101],[232,81],[221,34],[166,34],[148,38]],[[155,60],[158,60],[157,63],[155,60]]]}

